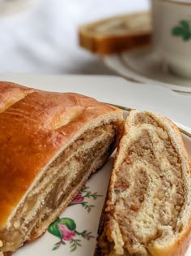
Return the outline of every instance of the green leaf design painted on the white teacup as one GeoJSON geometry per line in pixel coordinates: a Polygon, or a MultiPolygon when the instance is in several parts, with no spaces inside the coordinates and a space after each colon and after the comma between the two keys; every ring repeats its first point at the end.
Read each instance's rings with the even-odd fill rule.
{"type": "Polygon", "coordinates": [[[172,28],[172,36],[182,37],[183,41],[191,39],[191,24],[189,20],[180,20],[179,24],[172,28]]]}

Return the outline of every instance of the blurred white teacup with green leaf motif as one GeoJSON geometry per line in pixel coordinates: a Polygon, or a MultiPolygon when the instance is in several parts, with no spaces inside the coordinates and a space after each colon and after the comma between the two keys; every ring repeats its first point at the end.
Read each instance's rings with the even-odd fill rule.
{"type": "Polygon", "coordinates": [[[172,72],[191,77],[191,0],[152,0],[153,46],[172,72]]]}

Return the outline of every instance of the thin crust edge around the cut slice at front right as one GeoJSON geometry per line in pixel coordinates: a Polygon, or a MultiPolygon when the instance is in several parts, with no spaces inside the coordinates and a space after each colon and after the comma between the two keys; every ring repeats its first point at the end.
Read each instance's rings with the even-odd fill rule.
{"type": "MultiPolygon", "coordinates": [[[[102,246],[100,245],[109,245],[112,243],[112,228],[111,226],[108,226],[108,223],[110,222],[110,219],[112,215],[114,215],[114,212],[110,210],[110,207],[112,206],[112,195],[113,195],[113,190],[112,190],[112,185],[116,182],[117,177],[115,176],[115,171],[118,170],[121,166],[121,163],[123,162],[124,158],[126,157],[126,152],[125,152],[125,144],[126,141],[128,140],[128,137],[131,137],[131,132],[129,132],[130,126],[133,124],[131,123],[132,119],[134,118],[133,116],[136,115],[138,111],[131,111],[130,114],[127,116],[125,120],[125,126],[121,135],[121,141],[119,142],[118,148],[117,148],[117,154],[115,156],[115,161],[114,161],[114,166],[112,169],[112,175],[110,178],[110,182],[108,185],[108,195],[105,200],[105,204],[103,207],[102,215],[100,217],[100,225],[98,229],[98,237],[97,237],[97,245],[96,245],[96,250],[95,250],[95,256],[119,256],[119,255],[133,255],[125,252],[125,254],[117,254],[115,251],[112,251],[111,254],[104,254],[102,251],[102,246]],[[103,236],[104,234],[104,236],[103,236]],[[103,238],[104,237],[104,238],[103,238]],[[106,238],[107,237],[107,238],[106,238]]],[[[188,171],[189,176],[191,175],[191,161],[189,158],[189,155],[185,149],[185,145],[182,141],[182,138],[180,136],[180,132],[178,128],[176,127],[175,124],[172,123],[172,121],[168,118],[165,118],[160,115],[155,115],[154,113],[146,112],[148,115],[151,115],[154,117],[156,120],[159,121],[160,125],[164,125],[164,127],[168,130],[168,133],[170,134],[171,137],[173,137],[173,141],[176,144],[176,149],[178,149],[178,152],[181,152],[181,156],[183,157],[182,159],[182,165],[184,166],[184,171],[188,171]]],[[[189,189],[189,188],[187,188],[189,189]]],[[[189,192],[190,193],[190,192],[189,192]]],[[[190,202],[189,202],[189,207],[190,209],[190,202]]],[[[111,207],[112,209],[112,207],[111,207]]],[[[185,223],[185,227],[183,227],[184,232],[180,233],[180,236],[176,237],[177,239],[174,239],[171,243],[165,244],[165,246],[158,246],[158,245],[150,245],[149,247],[149,255],[151,256],[184,256],[191,241],[191,215],[189,212],[187,212],[185,223]]],[[[143,255],[143,254],[140,254],[143,255]]],[[[144,254],[145,255],[145,254],[144,254]]]]}

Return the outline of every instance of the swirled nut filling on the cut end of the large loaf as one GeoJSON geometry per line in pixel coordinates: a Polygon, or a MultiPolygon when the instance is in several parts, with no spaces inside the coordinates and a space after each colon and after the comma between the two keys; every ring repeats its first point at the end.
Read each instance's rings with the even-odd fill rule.
{"type": "Polygon", "coordinates": [[[11,228],[0,231],[2,252],[14,251],[26,237],[37,236],[36,230],[45,222],[49,223],[55,210],[59,210],[58,206],[71,201],[76,194],[73,194],[74,189],[83,179],[103,165],[111,154],[116,136],[117,127],[112,123],[87,130],[51,163],[19,205],[11,219],[11,228]]]}

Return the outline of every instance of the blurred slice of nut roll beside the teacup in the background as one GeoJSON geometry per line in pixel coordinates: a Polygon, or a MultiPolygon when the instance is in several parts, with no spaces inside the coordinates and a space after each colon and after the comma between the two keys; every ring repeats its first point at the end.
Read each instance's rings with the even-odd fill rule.
{"type": "Polygon", "coordinates": [[[151,43],[151,14],[118,15],[79,28],[79,45],[97,54],[132,50],[151,43]]]}

